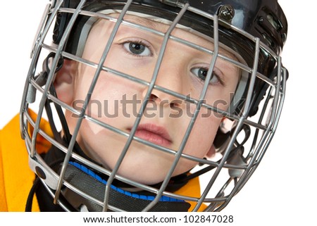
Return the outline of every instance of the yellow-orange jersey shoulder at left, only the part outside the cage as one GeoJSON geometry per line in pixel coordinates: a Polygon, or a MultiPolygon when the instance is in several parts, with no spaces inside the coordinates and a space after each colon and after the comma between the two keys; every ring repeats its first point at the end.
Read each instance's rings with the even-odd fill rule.
{"type": "MultiPolygon", "coordinates": [[[[19,115],[1,130],[0,142],[0,211],[25,211],[35,174],[28,167],[25,142],[20,137],[19,115]]],[[[33,207],[39,210],[37,201],[33,207]]]]}

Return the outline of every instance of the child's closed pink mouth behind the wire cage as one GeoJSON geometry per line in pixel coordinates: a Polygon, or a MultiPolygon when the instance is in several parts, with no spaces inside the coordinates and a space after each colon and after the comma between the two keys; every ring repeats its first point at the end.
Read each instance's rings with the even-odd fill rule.
{"type": "MultiPolygon", "coordinates": [[[[131,129],[129,129],[129,132],[131,129]]],[[[170,135],[164,127],[154,124],[141,124],[135,131],[135,137],[139,137],[153,144],[168,147],[172,144],[170,135]]]]}

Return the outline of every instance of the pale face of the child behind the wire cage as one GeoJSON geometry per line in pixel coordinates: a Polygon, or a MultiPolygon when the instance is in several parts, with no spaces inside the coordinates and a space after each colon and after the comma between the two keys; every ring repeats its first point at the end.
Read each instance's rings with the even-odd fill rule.
{"type": "MultiPolygon", "coordinates": [[[[125,20],[154,27],[160,32],[168,30],[168,25],[132,15],[127,15],[125,20]]],[[[82,58],[99,63],[113,26],[114,23],[108,20],[99,20],[94,24],[82,58]]],[[[213,50],[213,43],[180,28],[176,28],[172,34],[174,37],[213,50]]],[[[121,25],[113,40],[104,67],[150,82],[162,41],[163,37],[157,34],[121,25]]],[[[223,49],[220,49],[220,54],[233,57],[223,49]]],[[[206,76],[211,59],[211,54],[203,53],[170,39],[159,69],[156,86],[199,99],[204,86],[204,76],[206,76]]],[[[77,65],[77,71],[72,75],[71,90],[68,92],[69,94],[66,94],[69,95],[70,104],[74,108],[80,108],[80,104],[85,100],[95,70],[88,65],[77,65]]],[[[204,99],[206,103],[226,110],[230,103],[230,96],[235,92],[240,78],[239,70],[234,65],[218,58],[213,73],[214,76],[204,99]]],[[[87,115],[124,132],[130,132],[147,89],[145,84],[132,82],[110,72],[102,71],[92,92],[87,115]]],[[[154,89],[139,123],[136,137],[178,151],[195,109],[196,106],[193,103],[187,103],[154,89]]],[[[70,131],[72,131],[77,118],[73,117],[70,112],[66,113],[66,118],[70,131]]],[[[213,139],[221,119],[220,115],[201,108],[183,153],[198,158],[212,156],[214,153],[213,139]]],[[[84,119],[77,142],[88,156],[104,165],[105,168],[112,169],[127,139],[127,137],[84,119]]],[[[155,184],[163,181],[173,159],[173,154],[164,153],[133,141],[118,173],[137,182],[155,184]]],[[[187,172],[195,165],[197,163],[194,161],[182,158],[173,175],[187,172]]]]}

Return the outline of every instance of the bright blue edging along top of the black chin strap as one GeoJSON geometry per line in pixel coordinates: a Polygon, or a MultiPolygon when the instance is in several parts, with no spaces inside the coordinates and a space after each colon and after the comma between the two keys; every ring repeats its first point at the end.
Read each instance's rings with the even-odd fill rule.
{"type": "MultiPolygon", "coordinates": [[[[105,185],[107,184],[106,180],[102,179],[95,172],[93,172],[89,168],[85,167],[85,165],[80,165],[80,163],[76,163],[76,162],[69,162],[69,164],[75,166],[75,168],[78,168],[79,170],[82,170],[82,172],[85,172],[87,175],[93,177],[94,179],[98,180],[102,184],[105,184],[105,185]]],[[[111,187],[111,189],[114,189],[116,192],[120,192],[121,194],[125,194],[126,196],[131,196],[135,199],[143,199],[143,200],[147,200],[147,201],[153,201],[155,199],[155,196],[146,196],[146,195],[142,195],[142,194],[135,194],[135,193],[131,193],[131,192],[126,192],[123,189],[120,189],[120,188],[114,186],[113,184],[111,184],[110,187],[111,187]]],[[[160,201],[184,202],[183,200],[174,199],[174,198],[171,198],[168,196],[161,196],[160,201]]]]}

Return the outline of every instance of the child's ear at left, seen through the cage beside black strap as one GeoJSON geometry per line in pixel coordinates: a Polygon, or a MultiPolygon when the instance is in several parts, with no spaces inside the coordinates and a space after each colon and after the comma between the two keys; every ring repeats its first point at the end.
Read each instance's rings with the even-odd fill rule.
{"type": "Polygon", "coordinates": [[[63,67],[58,70],[54,80],[54,87],[58,99],[71,105],[74,95],[75,74],[77,71],[77,63],[75,61],[64,60],[63,67]]]}

